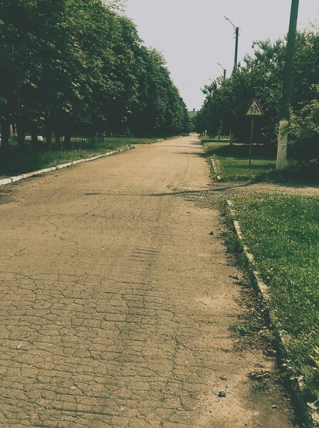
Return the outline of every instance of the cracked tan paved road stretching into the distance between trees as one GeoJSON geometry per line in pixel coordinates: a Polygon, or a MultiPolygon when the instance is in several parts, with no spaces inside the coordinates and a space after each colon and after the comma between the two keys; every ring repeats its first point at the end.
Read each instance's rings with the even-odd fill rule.
{"type": "Polygon", "coordinates": [[[249,384],[271,362],[234,351],[239,272],[216,208],[188,199],[201,152],[179,138],[1,190],[1,428],[291,427],[249,384]]]}

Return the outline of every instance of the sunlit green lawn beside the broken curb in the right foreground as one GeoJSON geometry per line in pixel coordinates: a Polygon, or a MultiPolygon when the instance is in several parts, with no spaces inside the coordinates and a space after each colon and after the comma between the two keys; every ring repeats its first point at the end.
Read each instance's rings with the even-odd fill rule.
{"type": "Polygon", "coordinates": [[[319,399],[319,199],[263,193],[233,202],[244,243],[269,286],[291,374],[303,376],[307,399],[319,399]]]}

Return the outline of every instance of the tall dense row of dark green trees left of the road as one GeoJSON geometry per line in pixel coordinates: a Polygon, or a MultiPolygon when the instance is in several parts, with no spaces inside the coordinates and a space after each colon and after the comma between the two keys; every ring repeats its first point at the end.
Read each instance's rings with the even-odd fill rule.
{"type": "Polygon", "coordinates": [[[0,2],[1,146],[9,127],[56,144],[98,132],[187,132],[187,108],[162,55],[147,49],[122,0],[0,2]]]}

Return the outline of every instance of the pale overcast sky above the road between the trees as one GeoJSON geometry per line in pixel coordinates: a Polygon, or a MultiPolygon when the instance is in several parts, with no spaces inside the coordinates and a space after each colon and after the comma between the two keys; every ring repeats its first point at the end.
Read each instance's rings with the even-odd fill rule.
{"type": "MultiPolygon", "coordinates": [[[[230,76],[234,28],[239,26],[239,61],[252,54],[254,40],[276,40],[288,31],[291,0],[127,0],[127,16],[146,46],[164,54],[187,108],[199,110],[209,79],[230,76]]],[[[300,0],[298,29],[319,21],[318,0],[300,0]]]]}

